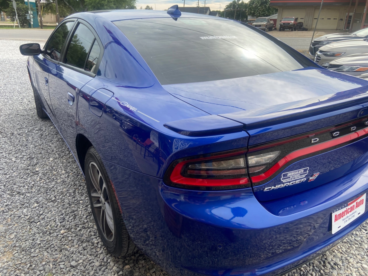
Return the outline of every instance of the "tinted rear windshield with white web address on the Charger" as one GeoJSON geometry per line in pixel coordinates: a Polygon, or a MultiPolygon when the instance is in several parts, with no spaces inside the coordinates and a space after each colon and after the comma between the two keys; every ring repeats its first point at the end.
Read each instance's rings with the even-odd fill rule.
{"type": "Polygon", "coordinates": [[[114,24],[135,46],[162,85],[303,68],[280,46],[233,21],[148,18],[114,24]]]}

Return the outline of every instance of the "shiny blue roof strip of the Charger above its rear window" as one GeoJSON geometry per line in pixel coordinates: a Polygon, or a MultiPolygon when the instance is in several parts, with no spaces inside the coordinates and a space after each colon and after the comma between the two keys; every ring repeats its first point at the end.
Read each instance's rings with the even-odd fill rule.
{"type": "MultiPolygon", "coordinates": [[[[93,20],[97,17],[106,18],[109,21],[120,21],[139,18],[165,18],[171,17],[166,11],[154,11],[154,10],[103,10],[103,11],[88,11],[85,13],[76,13],[68,16],[67,18],[78,17],[84,20],[93,20]]],[[[225,18],[219,18],[211,15],[194,14],[194,13],[181,13],[180,17],[186,18],[211,18],[217,20],[226,20],[225,18]]]]}

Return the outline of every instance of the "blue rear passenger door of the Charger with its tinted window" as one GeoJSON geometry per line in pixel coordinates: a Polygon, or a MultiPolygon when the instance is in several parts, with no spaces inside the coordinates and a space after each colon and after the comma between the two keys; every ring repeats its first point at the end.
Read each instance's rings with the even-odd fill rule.
{"type": "Polygon", "coordinates": [[[50,70],[49,95],[60,132],[76,155],[75,137],[77,99],[82,87],[91,81],[100,57],[100,44],[95,34],[78,21],[60,53],[60,63],[50,70]]]}

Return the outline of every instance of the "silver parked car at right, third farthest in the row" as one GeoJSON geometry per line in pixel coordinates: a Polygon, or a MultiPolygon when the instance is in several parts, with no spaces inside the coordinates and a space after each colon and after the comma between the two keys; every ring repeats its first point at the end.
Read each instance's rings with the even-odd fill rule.
{"type": "MultiPolygon", "coordinates": [[[[323,66],[326,67],[326,66],[323,66]]],[[[336,72],[342,72],[360,78],[367,78],[368,74],[368,53],[351,54],[331,61],[327,68],[336,72]]]]}

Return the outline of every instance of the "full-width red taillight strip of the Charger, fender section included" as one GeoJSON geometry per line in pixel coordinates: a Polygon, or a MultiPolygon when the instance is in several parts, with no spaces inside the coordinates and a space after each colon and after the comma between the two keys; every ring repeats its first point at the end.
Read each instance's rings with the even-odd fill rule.
{"type": "Polygon", "coordinates": [[[332,127],[206,156],[173,162],[167,185],[194,190],[230,190],[264,184],[290,164],[368,137],[368,116],[332,127]]]}

